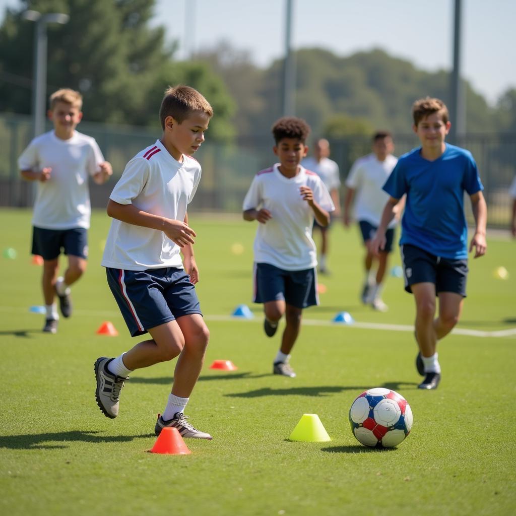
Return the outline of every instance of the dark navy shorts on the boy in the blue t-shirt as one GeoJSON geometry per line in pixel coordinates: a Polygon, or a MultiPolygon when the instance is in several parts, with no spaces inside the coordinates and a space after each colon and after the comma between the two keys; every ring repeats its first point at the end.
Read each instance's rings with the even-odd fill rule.
{"type": "Polygon", "coordinates": [[[410,286],[415,283],[430,282],[436,285],[436,294],[454,292],[466,297],[467,260],[442,258],[409,244],[400,251],[407,292],[412,292],[410,286]]]}

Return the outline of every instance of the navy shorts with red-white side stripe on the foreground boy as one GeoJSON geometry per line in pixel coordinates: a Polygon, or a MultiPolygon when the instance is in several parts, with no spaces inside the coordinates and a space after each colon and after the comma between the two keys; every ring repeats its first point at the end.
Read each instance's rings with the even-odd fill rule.
{"type": "Polygon", "coordinates": [[[184,269],[106,267],[106,273],[109,288],[133,337],[183,315],[202,315],[195,286],[184,269]]]}

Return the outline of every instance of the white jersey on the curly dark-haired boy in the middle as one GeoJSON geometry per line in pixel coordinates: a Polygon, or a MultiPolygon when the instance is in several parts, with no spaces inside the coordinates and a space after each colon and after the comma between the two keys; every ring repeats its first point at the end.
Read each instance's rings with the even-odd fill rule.
{"type": "Polygon", "coordinates": [[[251,183],[243,209],[266,208],[272,218],[257,222],[254,239],[254,261],[268,263],[284,270],[310,269],[317,265],[317,252],[312,239],[314,212],[299,192],[309,186],[314,200],[326,211],[335,206],[326,186],[315,172],[301,167],[294,178],[286,178],[277,163],[258,172],[251,183]]]}

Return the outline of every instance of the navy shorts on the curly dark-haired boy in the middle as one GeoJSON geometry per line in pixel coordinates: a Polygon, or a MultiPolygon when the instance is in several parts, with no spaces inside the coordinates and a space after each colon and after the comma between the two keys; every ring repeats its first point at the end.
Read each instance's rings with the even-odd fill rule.
{"type": "Polygon", "coordinates": [[[319,304],[315,269],[284,270],[268,263],[254,264],[253,301],[279,300],[296,308],[319,304]]]}

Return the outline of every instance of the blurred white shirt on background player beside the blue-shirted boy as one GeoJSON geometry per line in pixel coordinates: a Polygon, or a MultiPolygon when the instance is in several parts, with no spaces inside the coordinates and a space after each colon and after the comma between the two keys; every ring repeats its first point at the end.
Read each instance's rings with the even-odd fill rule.
{"type": "MultiPolygon", "coordinates": [[[[398,158],[389,154],[383,162],[375,154],[368,154],[353,163],[346,179],[346,186],[355,192],[354,216],[356,220],[365,220],[378,227],[383,208],[389,200],[388,193],[382,190],[385,181],[391,175],[398,158]]],[[[389,228],[397,224],[393,220],[389,228]]]]}

